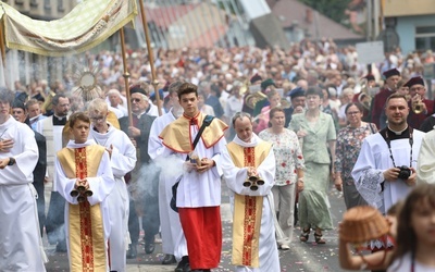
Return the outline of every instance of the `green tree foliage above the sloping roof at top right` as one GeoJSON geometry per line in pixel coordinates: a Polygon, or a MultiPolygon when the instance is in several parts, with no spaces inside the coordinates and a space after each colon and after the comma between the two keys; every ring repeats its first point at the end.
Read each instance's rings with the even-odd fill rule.
{"type": "Polygon", "coordinates": [[[347,18],[345,10],[350,0],[299,0],[337,23],[347,18]]]}

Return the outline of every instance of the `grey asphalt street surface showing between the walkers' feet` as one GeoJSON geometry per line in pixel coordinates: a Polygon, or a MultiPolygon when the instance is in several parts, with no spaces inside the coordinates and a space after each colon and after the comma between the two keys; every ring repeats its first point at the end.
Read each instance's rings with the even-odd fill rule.
{"type": "MultiPolygon", "coordinates": [[[[222,258],[217,269],[212,271],[234,271],[231,264],[231,247],[232,247],[232,215],[228,203],[227,189],[222,187],[222,223],[223,223],[223,246],[222,258]]],[[[294,231],[294,242],[290,249],[279,250],[279,261],[282,271],[343,271],[338,263],[338,235],[336,231],[337,223],[346,210],[341,194],[335,189],[330,191],[331,213],[334,222],[334,230],[325,231],[325,245],[314,243],[314,237],[311,234],[308,243],[299,242],[300,227],[297,226],[294,231]]],[[[313,232],[311,232],[313,233],[313,232]]],[[[159,238],[158,238],[159,240],[159,238]]],[[[46,264],[47,271],[69,271],[66,254],[55,254],[54,246],[47,245],[45,239],[46,251],[49,257],[49,262],[46,264]]],[[[161,245],[156,245],[156,251],[152,255],[146,255],[144,245],[138,247],[138,257],[134,260],[127,260],[127,272],[161,272],[174,271],[175,264],[162,265],[161,260],[164,255],[161,252],[161,245]]],[[[269,272],[269,271],[265,271],[269,272]]]]}

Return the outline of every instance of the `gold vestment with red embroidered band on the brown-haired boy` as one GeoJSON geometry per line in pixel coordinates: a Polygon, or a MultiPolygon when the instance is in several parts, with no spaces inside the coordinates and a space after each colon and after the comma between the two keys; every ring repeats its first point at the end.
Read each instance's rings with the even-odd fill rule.
{"type": "MultiPolygon", "coordinates": [[[[64,148],[58,152],[62,169],[69,178],[96,177],[104,147],[64,148]]],[[[105,271],[104,230],[100,205],[86,200],[70,203],[70,264],[71,271],[105,271]]]]}

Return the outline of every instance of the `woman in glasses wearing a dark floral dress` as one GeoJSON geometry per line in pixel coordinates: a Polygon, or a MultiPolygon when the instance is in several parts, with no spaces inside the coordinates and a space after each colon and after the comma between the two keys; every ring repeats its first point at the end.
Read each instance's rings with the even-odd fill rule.
{"type": "Polygon", "coordinates": [[[362,122],[363,108],[360,103],[348,103],[346,109],[348,125],[341,128],[337,136],[335,151],[335,187],[343,190],[346,208],[366,205],[358,193],[351,172],[360,153],[364,138],[377,132],[376,125],[362,122]]]}

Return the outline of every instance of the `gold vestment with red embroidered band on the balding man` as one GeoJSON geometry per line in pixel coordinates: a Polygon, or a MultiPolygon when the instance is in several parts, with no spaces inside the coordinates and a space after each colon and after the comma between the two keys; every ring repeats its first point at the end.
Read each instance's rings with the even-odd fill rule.
{"type": "MultiPolygon", "coordinates": [[[[272,145],[261,141],[256,147],[241,147],[233,141],[227,145],[237,168],[258,168],[268,157],[272,145]]],[[[245,181],[240,181],[243,183],[245,181]]],[[[259,267],[259,239],[263,196],[235,194],[233,218],[233,264],[259,267]]]]}

